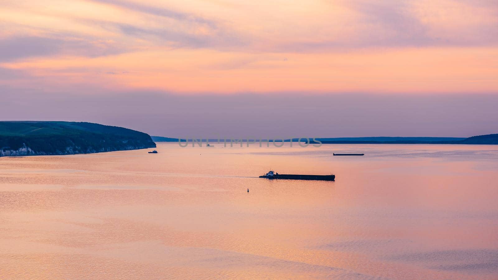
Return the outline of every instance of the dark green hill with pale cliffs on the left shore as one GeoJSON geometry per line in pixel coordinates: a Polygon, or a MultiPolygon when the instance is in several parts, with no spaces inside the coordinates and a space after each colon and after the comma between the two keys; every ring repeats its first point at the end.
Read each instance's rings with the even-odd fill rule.
{"type": "Polygon", "coordinates": [[[155,147],[148,134],[79,122],[0,122],[0,156],[74,154],[155,147]]]}

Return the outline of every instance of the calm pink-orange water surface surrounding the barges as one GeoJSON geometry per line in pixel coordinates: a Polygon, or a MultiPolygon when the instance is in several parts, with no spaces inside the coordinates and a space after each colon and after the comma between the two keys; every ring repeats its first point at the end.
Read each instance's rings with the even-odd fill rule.
{"type": "Polygon", "coordinates": [[[0,279],[498,278],[497,146],[288,145],[1,157],[0,279]]]}

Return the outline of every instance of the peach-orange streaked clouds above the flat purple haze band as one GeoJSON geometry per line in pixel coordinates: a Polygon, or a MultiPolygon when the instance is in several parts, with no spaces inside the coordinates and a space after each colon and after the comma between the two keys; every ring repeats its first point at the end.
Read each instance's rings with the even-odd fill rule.
{"type": "Polygon", "coordinates": [[[57,0],[0,7],[11,87],[496,93],[498,7],[470,0],[57,0]],[[467,16],[469,13],[472,17],[467,16]]]}

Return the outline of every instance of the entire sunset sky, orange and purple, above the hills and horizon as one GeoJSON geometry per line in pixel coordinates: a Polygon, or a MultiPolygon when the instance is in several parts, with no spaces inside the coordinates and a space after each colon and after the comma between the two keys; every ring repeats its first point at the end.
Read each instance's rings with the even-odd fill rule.
{"type": "Polygon", "coordinates": [[[167,137],[498,133],[496,0],[0,0],[1,120],[167,137]]]}

